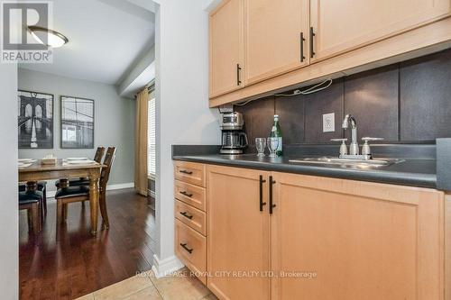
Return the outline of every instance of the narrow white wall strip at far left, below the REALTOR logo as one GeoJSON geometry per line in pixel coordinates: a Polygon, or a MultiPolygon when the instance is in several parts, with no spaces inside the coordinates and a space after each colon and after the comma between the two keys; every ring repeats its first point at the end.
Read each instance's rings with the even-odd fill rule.
{"type": "Polygon", "coordinates": [[[0,64],[0,297],[18,298],[17,66],[0,64]]]}

